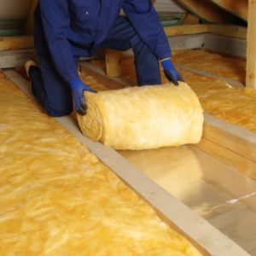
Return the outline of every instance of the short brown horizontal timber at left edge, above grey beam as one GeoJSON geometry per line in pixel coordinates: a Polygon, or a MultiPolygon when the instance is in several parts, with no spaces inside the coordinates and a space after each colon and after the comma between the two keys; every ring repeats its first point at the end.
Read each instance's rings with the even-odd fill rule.
{"type": "Polygon", "coordinates": [[[32,49],[33,47],[34,40],[30,36],[0,38],[0,51],[14,49],[32,49]]]}

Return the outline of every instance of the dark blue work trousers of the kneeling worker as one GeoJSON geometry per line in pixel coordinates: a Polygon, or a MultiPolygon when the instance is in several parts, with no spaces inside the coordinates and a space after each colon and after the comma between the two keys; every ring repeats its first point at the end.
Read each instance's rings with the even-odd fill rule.
{"type": "MultiPolygon", "coordinates": [[[[133,49],[137,71],[137,84],[160,84],[158,58],[138,37],[125,17],[119,17],[115,26],[99,48],[133,49]]],[[[75,55],[75,54],[74,54],[75,55]]],[[[76,61],[77,57],[74,56],[76,61]]],[[[72,91],[55,70],[49,57],[39,56],[39,67],[30,70],[32,92],[49,115],[59,117],[73,111],[72,91]]]]}

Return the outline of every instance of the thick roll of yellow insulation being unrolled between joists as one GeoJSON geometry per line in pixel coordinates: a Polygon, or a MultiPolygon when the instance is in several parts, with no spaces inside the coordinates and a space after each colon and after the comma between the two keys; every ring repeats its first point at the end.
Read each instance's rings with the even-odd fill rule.
{"type": "Polygon", "coordinates": [[[149,149],[199,143],[203,111],[188,84],[148,85],[85,92],[83,134],[115,149],[149,149]]]}

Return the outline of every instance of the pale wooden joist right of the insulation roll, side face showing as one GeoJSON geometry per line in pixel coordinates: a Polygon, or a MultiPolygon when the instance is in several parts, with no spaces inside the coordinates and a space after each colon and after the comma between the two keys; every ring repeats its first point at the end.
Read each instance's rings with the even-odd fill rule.
{"type": "Polygon", "coordinates": [[[205,113],[203,139],[197,146],[256,179],[256,134],[205,113]]]}

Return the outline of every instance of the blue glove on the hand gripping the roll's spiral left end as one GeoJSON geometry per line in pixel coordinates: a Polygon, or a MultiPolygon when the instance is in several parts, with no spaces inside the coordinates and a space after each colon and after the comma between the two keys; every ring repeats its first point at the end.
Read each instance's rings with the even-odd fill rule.
{"type": "Polygon", "coordinates": [[[87,105],[84,99],[84,90],[95,92],[87,84],[84,84],[81,79],[73,79],[69,81],[70,88],[72,90],[73,104],[76,111],[84,115],[86,113],[87,105]]]}

